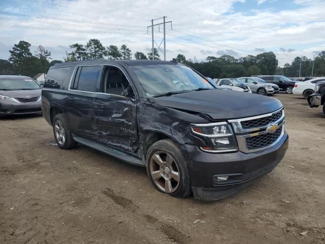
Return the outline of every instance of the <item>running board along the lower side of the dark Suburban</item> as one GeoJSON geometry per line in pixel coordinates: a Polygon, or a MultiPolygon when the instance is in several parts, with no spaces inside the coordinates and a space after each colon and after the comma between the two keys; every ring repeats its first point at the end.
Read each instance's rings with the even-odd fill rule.
{"type": "Polygon", "coordinates": [[[95,150],[99,150],[104,154],[108,154],[110,156],[113,156],[114,158],[117,158],[119,160],[122,160],[126,163],[129,164],[134,164],[134,165],[138,165],[138,166],[142,166],[145,167],[144,163],[142,162],[141,159],[125,154],[123,153],[123,151],[109,147],[109,146],[104,146],[98,142],[94,142],[94,141],[90,141],[88,139],[82,138],[80,136],[76,136],[73,135],[73,139],[77,142],[79,142],[80,144],[83,144],[85,146],[91,147],[95,150]]]}

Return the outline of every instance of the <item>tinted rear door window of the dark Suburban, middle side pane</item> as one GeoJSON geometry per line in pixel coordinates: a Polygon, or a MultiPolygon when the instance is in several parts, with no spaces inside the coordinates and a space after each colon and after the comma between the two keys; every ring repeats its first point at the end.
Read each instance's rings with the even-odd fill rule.
{"type": "MultiPolygon", "coordinates": [[[[79,73],[78,83],[74,84],[77,90],[83,90],[84,92],[95,92],[95,87],[100,77],[102,68],[100,66],[84,66],[79,67],[77,74],[79,73]]],[[[78,77],[76,76],[76,79],[78,77]]]]}

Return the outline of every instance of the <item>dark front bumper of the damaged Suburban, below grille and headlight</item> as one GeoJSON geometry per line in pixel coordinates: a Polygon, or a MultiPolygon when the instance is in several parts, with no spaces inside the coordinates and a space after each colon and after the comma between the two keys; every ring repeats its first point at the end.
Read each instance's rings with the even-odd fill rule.
{"type": "Polygon", "coordinates": [[[194,198],[206,201],[231,196],[256,179],[272,171],[283,159],[288,148],[288,135],[284,133],[275,146],[256,153],[241,151],[211,154],[196,146],[185,145],[194,198]],[[218,182],[218,176],[228,180],[218,182]]]}

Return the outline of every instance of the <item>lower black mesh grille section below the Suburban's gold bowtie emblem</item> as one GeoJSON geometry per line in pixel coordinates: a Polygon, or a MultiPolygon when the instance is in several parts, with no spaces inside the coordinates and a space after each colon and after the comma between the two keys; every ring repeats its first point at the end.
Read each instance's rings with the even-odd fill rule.
{"type": "Polygon", "coordinates": [[[266,133],[258,136],[247,137],[246,145],[248,150],[260,149],[274,143],[282,133],[282,127],[279,127],[274,133],[266,133]]]}

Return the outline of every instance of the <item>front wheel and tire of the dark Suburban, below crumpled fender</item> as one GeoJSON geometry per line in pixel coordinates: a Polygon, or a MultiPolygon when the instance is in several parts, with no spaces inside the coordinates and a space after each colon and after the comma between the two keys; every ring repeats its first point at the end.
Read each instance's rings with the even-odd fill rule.
{"type": "Polygon", "coordinates": [[[179,198],[191,195],[187,163],[175,142],[164,139],[152,144],[147,152],[146,165],[151,183],[159,192],[179,198]]]}

